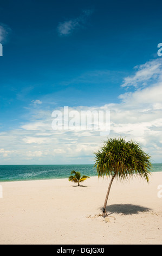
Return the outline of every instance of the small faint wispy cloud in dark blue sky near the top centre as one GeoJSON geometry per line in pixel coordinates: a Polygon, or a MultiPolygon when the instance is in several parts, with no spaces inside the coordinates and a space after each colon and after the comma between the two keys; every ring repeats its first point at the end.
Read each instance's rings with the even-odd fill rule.
{"type": "Polygon", "coordinates": [[[81,28],[87,22],[88,17],[93,13],[93,10],[83,10],[79,17],[60,22],[57,26],[59,35],[69,35],[75,29],[81,28]]]}

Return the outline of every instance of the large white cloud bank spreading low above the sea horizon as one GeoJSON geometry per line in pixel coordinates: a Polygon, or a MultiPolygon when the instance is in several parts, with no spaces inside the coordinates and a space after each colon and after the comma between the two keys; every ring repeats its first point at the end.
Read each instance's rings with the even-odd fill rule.
{"type": "MultiPolygon", "coordinates": [[[[150,70],[156,62],[142,65],[140,81],[145,81],[146,66],[150,70]]],[[[137,74],[141,66],[136,67],[137,74]]],[[[153,70],[153,69],[151,69],[153,70]]],[[[124,136],[127,140],[134,139],[141,143],[146,153],[152,156],[154,162],[162,162],[162,66],[157,65],[149,78],[149,86],[135,88],[134,92],[120,95],[120,102],[91,107],[69,107],[70,111],[83,109],[89,111],[110,110],[111,131],[109,137],[124,136]],[[156,74],[155,76],[153,74],[156,74]]],[[[135,77],[134,76],[132,77],[135,77]]],[[[125,77],[127,81],[127,77],[125,77]]],[[[135,79],[133,78],[132,84],[135,79]]],[[[131,81],[129,81],[131,82],[131,81]]],[[[42,105],[41,105],[42,107],[42,105]]],[[[0,133],[1,164],[9,163],[93,163],[93,152],[103,144],[106,136],[100,136],[100,131],[77,130],[56,131],[51,128],[53,118],[51,111],[29,109],[28,122],[17,130],[0,133]]],[[[63,113],[63,109],[60,108],[63,113]]]]}

